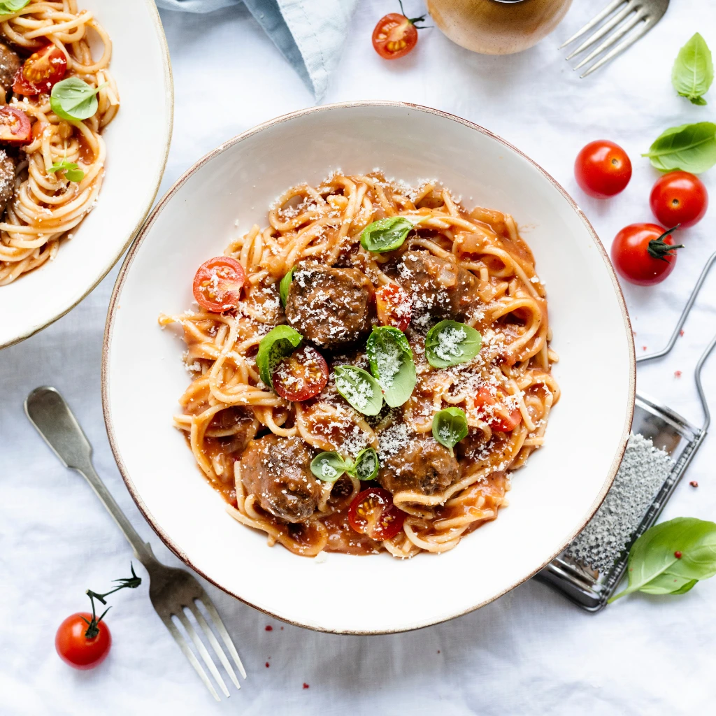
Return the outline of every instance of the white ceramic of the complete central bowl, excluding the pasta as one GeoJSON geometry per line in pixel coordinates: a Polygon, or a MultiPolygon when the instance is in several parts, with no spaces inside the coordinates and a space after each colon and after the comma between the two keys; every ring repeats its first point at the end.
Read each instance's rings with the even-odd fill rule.
{"type": "Polygon", "coordinates": [[[604,247],[564,190],[499,137],[444,112],[390,102],[316,107],[218,147],[165,195],[112,296],[103,361],[105,420],[130,493],[165,543],[229,594],[330,632],[397,632],[478,608],[543,567],[609,489],[634,407],[631,326],[604,247]],[[183,343],[157,324],[192,301],[200,263],[266,224],[271,202],[329,170],[380,167],[438,178],[466,205],[498,208],[525,232],[546,281],[562,399],[546,446],[513,475],[510,506],[453,551],[410,561],[329,554],[324,563],[266,546],[236,523],[172,427],[188,374],[183,343]],[[235,222],[238,220],[238,226],[235,222]]]}

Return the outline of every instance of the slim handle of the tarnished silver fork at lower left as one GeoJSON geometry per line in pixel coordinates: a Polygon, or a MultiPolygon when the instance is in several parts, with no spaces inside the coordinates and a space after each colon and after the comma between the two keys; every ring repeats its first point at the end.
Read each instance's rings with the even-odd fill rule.
{"type": "Polygon", "coordinates": [[[132,527],[100,475],[95,472],[92,465],[92,445],[62,395],[49,386],[35,388],[25,400],[25,412],[62,464],[66,468],[77,470],[91,485],[92,490],[95,490],[97,497],[102,500],[102,504],[132,545],[137,559],[145,566],[147,562],[154,562],[150,544],[143,541],[132,527]]]}

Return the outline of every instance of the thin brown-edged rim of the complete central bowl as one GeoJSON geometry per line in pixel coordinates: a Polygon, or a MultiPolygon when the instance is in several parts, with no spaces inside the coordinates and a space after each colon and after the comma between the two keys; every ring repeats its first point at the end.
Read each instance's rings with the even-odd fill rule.
{"type": "Polygon", "coordinates": [[[563,551],[564,548],[566,548],[571,541],[576,538],[576,536],[584,529],[586,524],[591,520],[591,518],[594,516],[594,513],[599,509],[599,506],[604,501],[604,498],[606,497],[606,493],[609,491],[609,488],[611,488],[612,483],[614,482],[614,478],[616,476],[617,470],[619,470],[619,465],[621,464],[621,459],[624,456],[624,451],[627,448],[627,441],[629,440],[629,433],[632,429],[632,420],[634,417],[634,403],[636,400],[636,390],[637,390],[637,363],[636,363],[636,354],[634,350],[634,335],[632,334],[632,322],[631,319],[629,319],[629,312],[627,311],[627,304],[624,301],[624,294],[621,291],[621,286],[619,284],[618,279],[616,278],[616,272],[614,271],[614,266],[612,266],[611,261],[609,259],[609,255],[606,252],[606,249],[604,248],[604,245],[599,240],[599,236],[597,236],[596,231],[594,230],[594,227],[591,225],[590,221],[586,216],[584,215],[584,212],[581,211],[581,208],[576,204],[573,198],[567,193],[567,191],[562,187],[560,183],[556,181],[550,174],[546,172],[538,163],[536,163],[534,160],[529,158],[525,153],[523,153],[521,150],[519,150],[517,147],[513,146],[510,142],[507,142],[502,137],[499,137],[498,135],[495,135],[493,132],[490,132],[490,130],[485,129],[484,127],[480,127],[480,125],[475,124],[474,122],[470,122],[470,120],[465,120],[463,117],[459,117],[458,115],[453,115],[450,112],[443,112],[442,110],[437,110],[433,107],[426,107],[425,105],[416,105],[411,102],[394,102],[391,100],[356,100],[352,102],[335,102],[334,104],[330,105],[319,105],[315,107],[306,107],[303,110],[296,110],[294,112],[288,112],[285,115],[280,115],[279,117],[274,117],[271,120],[266,120],[266,122],[261,122],[261,124],[256,125],[255,127],[251,127],[251,129],[246,130],[246,132],[241,132],[241,134],[236,135],[235,137],[231,137],[231,139],[226,140],[226,142],[223,142],[221,145],[218,145],[215,149],[211,150],[207,154],[205,154],[202,158],[197,160],[188,170],[186,170],[178,180],[173,183],[173,185],[167,190],[165,195],[159,200],[157,205],[155,206],[154,210],[152,211],[149,218],[147,218],[147,221],[145,222],[144,226],[142,226],[142,229],[140,233],[137,234],[137,237],[135,238],[135,242],[132,244],[130,250],[127,252],[127,256],[125,256],[125,260],[122,262],[122,266],[120,268],[120,272],[117,275],[117,281],[115,282],[115,287],[112,289],[112,296],[110,298],[110,304],[109,308],[107,309],[107,322],[105,324],[105,337],[102,344],[102,413],[105,417],[105,426],[107,428],[107,437],[110,440],[110,447],[112,448],[112,454],[115,456],[115,460],[117,462],[117,468],[119,468],[120,473],[122,475],[122,479],[125,481],[125,485],[127,486],[127,490],[129,490],[130,495],[132,495],[132,499],[135,501],[135,504],[137,505],[137,508],[139,508],[140,512],[144,516],[145,520],[150,524],[151,528],[157,533],[157,536],[160,538],[161,541],[167,546],[170,551],[172,551],[178,558],[180,558],[181,561],[183,561],[190,569],[195,571],[197,574],[203,577],[206,581],[213,584],[213,586],[218,587],[218,589],[221,589],[221,591],[226,592],[226,594],[229,594],[230,596],[233,596],[235,599],[238,599],[238,601],[242,601],[243,604],[248,604],[248,606],[252,606],[254,609],[257,609],[258,611],[263,612],[263,614],[266,614],[267,616],[271,616],[274,619],[279,619],[280,621],[284,621],[287,624],[293,624],[296,627],[303,627],[304,629],[311,629],[314,632],[326,632],[329,634],[354,634],[354,635],[373,635],[373,634],[397,634],[400,632],[412,632],[415,629],[422,629],[424,627],[431,627],[434,624],[442,624],[445,621],[450,621],[451,619],[455,619],[458,616],[463,616],[465,614],[469,614],[471,611],[475,611],[476,609],[480,609],[480,607],[485,606],[486,604],[490,604],[490,602],[495,601],[495,599],[499,599],[500,596],[503,596],[504,594],[507,594],[508,591],[512,591],[517,586],[520,586],[524,582],[526,582],[528,579],[531,579],[533,576],[535,576],[539,571],[544,569],[550,563],[556,556],[558,556],[561,551],[563,551]],[[523,159],[526,159],[533,167],[535,167],[542,175],[545,177],[553,186],[558,190],[561,195],[568,201],[569,205],[571,206],[572,210],[576,213],[577,216],[581,219],[582,223],[584,223],[584,226],[586,227],[587,231],[591,234],[591,238],[594,241],[594,245],[601,253],[601,258],[604,260],[604,265],[606,267],[606,270],[609,273],[609,276],[611,278],[612,285],[614,286],[614,292],[616,294],[616,299],[619,302],[619,308],[621,309],[621,316],[624,320],[624,330],[627,332],[627,345],[629,347],[629,396],[628,396],[628,405],[627,405],[627,413],[624,420],[624,429],[621,433],[621,440],[619,442],[619,447],[616,450],[616,453],[614,455],[614,460],[612,460],[611,467],[609,468],[609,473],[606,476],[606,479],[604,480],[604,484],[601,487],[601,490],[599,491],[599,494],[596,496],[594,503],[592,503],[591,508],[589,509],[589,512],[584,517],[584,519],[581,521],[579,526],[569,535],[568,538],[566,538],[566,541],[564,541],[563,544],[548,558],[546,561],[544,561],[540,566],[538,566],[536,569],[533,569],[529,574],[526,574],[521,579],[518,579],[514,584],[511,584],[511,586],[508,586],[506,589],[503,589],[498,594],[495,594],[491,596],[489,599],[483,599],[478,604],[475,604],[473,606],[470,606],[468,609],[463,609],[459,611],[456,614],[452,614],[450,616],[441,617],[439,619],[432,619],[430,621],[425,621],[420,624],[416,624],[415,626],[410,627],[399,627],[397,629],[379,629],[379,630],[371,630],[371,629],[357,629],[352,631],[344,631],[340,629],[326,629],[323,627],[317,627],[313,624],[303,624],[300,621],[294,621],[292,619],[286,619],[286,617],[279,616],[278,614],[274,614],[274,612],[269,611],[268,609],[263,609],[263,607],[258,606],[256,604],[253,604],[251,601],[248,601],[248,599],[244,599],[239,594],[234,593],[230,589],[227,589],[225,586],[218,584],[218,582],[211,579],[210,576],[205,574],[198,566],[196,566],[189,558],[188,556],[183,553],[179,546],[168,536],[167,533],[163,530],[163,528],[158,524],[157,521],[155,521],[155,518],[153,517],[152,513],[147,508],[147,505],[143,502],[142,498],[140,497],[137,488],[135,488],[134,483],[132,483],[132,478],[130,478],[129,471],[127,470],[125,464],[122,461],[122,455],[120,453],[119,445],[117,445],[117,439],[115,437],[114,427],[112,425],[112,410],[110,405],[110,396],[109,396],[109,357],[110,357],[110,349],[112,346],[112,331],[114,329],[114,322],[115,317],[117,314],[117,303],[120,296],[120,293],[122,291],[122,287],[125,284],[125,278],[127,276],[127,272],[129,271],[130,267],[132,266],[132,263],[135,259],[135,256],[137,254],[138,249],[142,245],[142,242],[147,237],[147,235],[150,233],[151,228],[153,227],[155,220],[158,218],[160,213],[163,211],[163,208],[165,205],[170,201],[171,198],[173,198],[173,195],[191,178],[191,176],[199,170],[203,165],[210,162],[218,156],[219,154],[225,152],[228,148],[233,147],[233,145],[238,144],[239,142],[242,142],[243,140],[246,140],[248,137],[251,137],[255,134],[258,134],[258,132],[261,132],[269,127],[274,127],[276,125],[282,124],[283,122],[289,122],[293,120],[296,117],[304,117],[306,115],[311,115],[316,112],[330,112],[332,110],[342,110],[342,109],[351,109],[353,107],[393,107],[393,108],[403,108],[405,110],[412,110],[412,111],[418,111],[418,112],[426,112],[428,114],[437,115],[439,117],[444,117],[447,120],[451,120],[453,122],[459,122],[462,125],[465,125],[465,127],[469,127],[470,129],[477,130],[483,135],[487,135],[488,137],[492,138],[493,140],[496,140],[497,142],[500,142],[501,145],[507,147],[508,149],[512,150],[516,154],[520,155],[523,159]]]}

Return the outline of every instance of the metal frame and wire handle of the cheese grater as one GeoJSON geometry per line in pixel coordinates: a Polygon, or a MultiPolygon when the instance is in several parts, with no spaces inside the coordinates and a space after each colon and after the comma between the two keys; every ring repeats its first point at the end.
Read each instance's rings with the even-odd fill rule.
{"type": "MultiPolygon", "coordinates": [[[[696,282],[696,286],[686,306],[684,306],[684,310],[667,346],[659,352],[638,357],[637,363],[664,357],[671,351],[696,301],[697,294],[715,262],[716,253],[706,262],[706,266],[704,266],[696,282]]],[[[574,545],[574,543],[572,543],[571,546],[566,548],[566,550],[537,574],[536,579],[544,581],[554,589],[561,591],[562,594],[571,599],[571,601],[574,601],[578,606],[581,606],[582,609],[586,609],[587,611],[599,611],[600,609],[604,609],[606,600],[614,594],[616,587],[619,586],[624,576],[624,572],[627,570],[627,558],[629,557],[629,550],[632,548],[632,544],[657,521],[664,505],[671,497],[674,488],[676,488],[697,449],[704,441],[711,417],[701,384],[701,369],[715,346],[716,336],[702,353],[694,371],[694,379],[704,412],[704,422],[701,427],[693,425],[666,405],[661,405],[644,395],[637,395],[636,405],[634,407],[634,420],[632,422],[632,433],[642,435],[644,438],[651,440],[654,448],[658,448],[659,450],[663,450],[664,453],[667,453],[672,463],[661,488],[657,490],[652,503],[644,512],[642,521],[632,533],[626,548],[621,551],[616,561],[606,569],[594,569],[569,554],[571,546],[574,545]]],[[[631,444],[627,446],[627,453],[630,449],[632,449],[631,444]]],[[[625,453],[625,460],[626,458],[627,454],[625,453]]],[[[622,464],[624,464],[624,461],[622,464]]]]}

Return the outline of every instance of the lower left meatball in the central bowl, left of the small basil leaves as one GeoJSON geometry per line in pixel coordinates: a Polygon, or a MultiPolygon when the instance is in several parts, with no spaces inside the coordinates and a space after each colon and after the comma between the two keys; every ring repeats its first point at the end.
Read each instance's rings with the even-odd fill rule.
{"type": "Polygon", "coordinates": [[[310,465],[311,453],[301,438],[265,435],[251,440],[241,455],[241,481],[266,512],[286,522],[305,522],[321,495],[310,465]]]}

